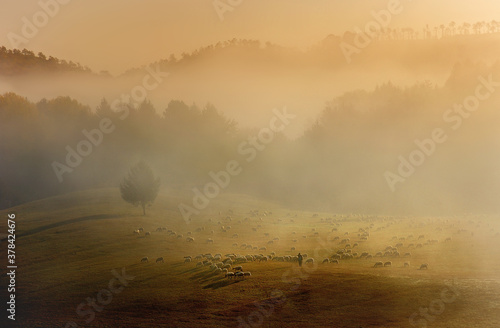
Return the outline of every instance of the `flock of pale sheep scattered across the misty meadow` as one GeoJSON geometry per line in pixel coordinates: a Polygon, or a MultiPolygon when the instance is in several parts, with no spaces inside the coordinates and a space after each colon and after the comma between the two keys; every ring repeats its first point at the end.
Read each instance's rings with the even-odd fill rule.
{"type": "MultiPolygon", "coordinates": [[[[232,214],[232,213],[231,213],[232,214]]],[[[199,243],[202,244],[208,244],[208,245],[213,245],[215,243],[215,236],[219,235],[221,236],[221,233],[226,233],[222,234],[222,237],[224,241],[228,240],[238,240],[240,238],[240,234],[244,234],[245,238],[250,238],[252,237],[252,234],[257,234],[257,233],[263,233],[263,235],[260,235],[261,237],[267,238],[267,242],[264,245],[257,246],[253,243],[241,243],[238,244],[237,242],[232,243],[232,247],[239,249],[239,250],[251,250],[251,251],[256,251],[253,254],[238,254],[238,252],[235,252],[234,249],[222,256],[220,253],[217,253],[215,255],[212,255],[211,253],[204,253],[204,254],[199,254],[195,257],[191,256],[186,256],[184,258],[184,263],[196,263],[196,267],[206,267],[210,272],[214,274],[220,274],[224,275],[228,279],[234,279],[234,278],[245,278],[251,276],[251,273],[248,271],[243,271],[242,265],[243,263],[246,262],[269,262],[269,261],[276,261],[276,262],[298,262],[298,256],[297,255],[277,255],[276,252],[268,252],[268,247],[277,247],[279,245],[279,248],[281,251],[283,251],[283,248],[285,247],[284,244],[286,242],[281,241],[280,242],[280,237],[276,236],[274,238],[271,238],[271,232],[268,231],[262,231],[264,230],[263,225],[266,223],[269,223],[269,218],[266,218],[266,221],[264,221],[263,217],[270,216],[272,213],[271,212],[262,212],[259,210],[254,210],[251,211],[250,213],[251,217],[260,217],[257,219],[250,219],[250,218],[245,218],[245,219],[239,219],[233,221],[232,216],[227,215],[225,217],[222,217],[217,221],[217,220],[212,220],[208,219],[206,221],[206,224],[204,226],[200,226],[194,230],[194,233],[191,231],[186,232],[186,237],[184,237],[184,234],[178,233],[172,230],[168,230],[165,227],[159,227],[156,229],[156,232],[161,232],[161,233],[166,233],[167,236],[170,236],[175,239],[179,240],[185,240],[187,243],[195,243],[195,235],[198,234],[198,239],[199,243]],[[215,222],[217,221],[217,222],[215,222]],[[237,227],[246,227],[246,230],[248,232],[240,232],[238,233],[228,233],[232,230],[231,225],[228,225],[230,222],[237,227]],[[249,226],[249,227],[248,227],[249,226]],[[251,228],[251,229],[249,229],[251,228]],[[258,254],[257,254],[258,253],[258,254]]],[[[290,217],[290,215],[288,215],[290,217]]],[[[313,218],[317,218],[316,215],[313,215],[313,218]]],[[[293,224],[294,218],[288,218],[289,223],[293,224]]],[[[284,220],[283,218],[279,219],[272,219],[272,223],[274,224],[283,224],[284,220]]],[[[369,266],[373,268],[384,268],[384,267],[392,267],[393,266],[393,261],[394,259],[404,259],[403,267],[404,268],[409,268],[410,267],[410,262],[407,260],[412,257],[411,250],[417,250],[419,248],[426,247],[428,245],[435,245],[438,243],[437,239],[427,239],[425,235],[418,235],[418,237],[414,237],[413,234],[409,234],[404,237],[397,237],[394,236],[392,237],[391,240],[388,240],[388,243],[394,242],[394,246],[386,246],[383,249],[379,249],[377,252],[366,252],[366,251],[357,251],[359,248],[363,248],[363,243],[367,242],[371,236],[372,233],[374,232],[379,232],[383,229],[389,228],[392,225],[396,223],[401,223],[401,219],[382,219],[380,220],[379,218],[371,219],[370,218],[358,218],[353,219],[352,217],[342,217],[339,216],[335,219],[328,218],[328,219],[321,219],[321,224],[328,224],[330,225],[330,228],[328,228],[327,231],[325,231],[324,227],[322,228],[312,228],[310,231],[310,234],[308,235],[303,234],[302,238],[297,237],[297,233],[295,231],[289,232],[287,236],[290,239],[290,243],[292,245],[299,245],[299,239],[307,239],[311,237],[319,237],[320,234],[319,232],[322,232],[322,236],[325,235],[325,233],[328,234],[327,241],[331,243],[330,245],[335,245],[333,246],[332,249],[332,254],[328,258],[324,258],[323,260],[320,260],[320,263],[322,264],[327,264],[327,263],[332,263],[332,264],[340,264],[341,262],[347,262],[347,261],[352,261],[355,259],[364,259],[364,260],[375,260],[374,262],[371,262],[372,264],[369,264],[369,266]],[[341,233],[339,230],[344,229],[343,228],[343,223],[352,223],[352,222],[360,222],[363,224],[362,227],[359,227],[357,231],[351,232],[345,231],[341,233]],[[377,227],[375,229],[375,223],[377,223],[377,227]],[[380,225],[380,223],[383,223],[380,225]],[[319,230],[319,231],[317,231],[319,230]],[[353,241],[351,241],[351,238],[353,241]],[[402,250],[405,250],[404,252],[402,250]]],[[[286,222],[288,223],[288,222],[286,222]]],[[[316,224],[318,224],[316,219],[316,224]]],[[[235,227],[236,228],[236,227],[235,227]]],[[[411,228],[411,224],[410,224],[411,228]]],[[[415,227],[413,227],[415,228],[415,227]]],[[[241,230],[241,229],[240,229],[241,230]]],[[[139,228],[134,231],[134,234],[136,235],[141,235],[144,233],[144,229],[139,228]]],[[[144,237],[151,236],[150,232],[145,232],[144,237]]],[[[196,238],[198,238],[196,237],[196,238]]],[[[260,238],[261,243],[262,243],[262,238],[260,238]]],[[[445,239],[445,242],[451,241],[451,237],[448,237],[445,239]]],[[[289,245],[289,246],[292,246],[289,245]]],[[[297,253],[298,249],[302,248],[299,246],[292,246],[289,247],[288,251],[286,252],[293,252],[297,253]]],[[[373,247],[371,247],[373,249],[373,247]]],[[[308,257],[307,254],[302,254],[304,258],[304,263],[305,264],[314,264],[315,259],[308,257]]],[[[403,261],[403,260],[402,260],[403,261]]],[[[149,262],[148,257],[144,257],[141,259],[141,262],[149,262]]],[[[163,257],[158,257],[155,261],[156,263],[163,263],[164,258],[163,257]]],[[[428,264],[427,263],[422,263],[420,266],[418,266],[420,270],[428,269],[428,264]]]]}

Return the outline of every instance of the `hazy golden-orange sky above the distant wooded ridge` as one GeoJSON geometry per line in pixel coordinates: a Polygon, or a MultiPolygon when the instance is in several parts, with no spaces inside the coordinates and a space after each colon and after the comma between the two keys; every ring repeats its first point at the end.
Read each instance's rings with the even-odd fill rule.
{"type": "MultiPolygon", "coordinates": [[[[119,74],[174,53],[232,38],[305,48],[329,34],[363,27],[372,11],[399,2],[390,26],[421,29],[451,21],[491,21],[498,0],[0,0],[0,44],[119,74]],[[221,15],[215,3],[225,3],[221,15]],[[232,3],[233,5],[230,5],[232,3]],[[51,15],[41,13],[49,8],[51,15]],[[23,43],[26,26],[37,31],[23,43]],[[28,23],[26,23],[28,22],[28,23]],[[10,35],[10,38],[9,38],[10,35]]],[[[28,29],[29,30],[29,29],[28,29]]]]}

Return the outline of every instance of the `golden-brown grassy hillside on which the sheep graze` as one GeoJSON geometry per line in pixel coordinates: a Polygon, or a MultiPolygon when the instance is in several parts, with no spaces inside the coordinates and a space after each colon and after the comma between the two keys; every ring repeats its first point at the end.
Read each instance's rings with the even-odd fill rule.
{"type": "MultiPolygon", "coordinates": [[[[224,194],[198,220],[186,224],[176,209],[179,201],[188,198],[163,192],[143,217],[139,209],[119,199],[116,189],[103,189],[2,211],[2,216],[17,215],[16,325],[64,327],[71,321],[84,325],[90,316],[78,315],[77,307],[89,297],[105,296],[99,292],[110,288],[112,270],[122,272],[122,268],[129,278],[127,286],[109,302],[103,301],[106,305],[97,307],[99,311],[90,311],[95,318],[86,327],[235,327],[242,320],[262,327],[402,327],[412,322],[409,318],[425,322],[413,314],[419,307],[432,308],[432,302],[440,299],[447,302],[442,311],[432,310],[441,311],[431,317],[432,327],[483,328],[500,323],[500,267],[495,260],[500,226],[494,218],[310,213],[224,194]],[[224,232],[222,225],[229,230],[224,232]],[[138,227],[151,235],[133,234],[138,227]],[[175,236],[158,232],[157,227],[175,231],[175,236]],[[361,228],[369,232],[367,240],[357,237],[361,228]],[[186,242],[189,232],[192,243],[186,242]],[[352,246],[353,254],[375,255],[394,245],[394,235],[407,236],[399,249],[411,251],[411,258],[389,257],[385,261],[391,260],[392,267],[373,268],[376,256],[355,255],[339,264],[306,264],[302,270],[296,262],[279,259],[245,261],[241,265],[251,276],[241,280],[197,267],[198,260],[183,263],[188,255],[272,252],[278,257],[308,253],[320,262],[350,248],[334,238],[344,232],[351,244],[359,243],[352,246]],[[239,237],[232,237],[234,233],[239,237]],[[417,240],[420,234],[436,242],[412,248],[410,243],[424,244],[417,240]],[[273,237],[279,240],[269,244],[273,237]],[[207,238],[214,242],[207,244],[207,238]],[[258,250],[242,248],[243,243],[258,250]],[[141,263],[145,256],[149,263],[141,263]],[[157,257],[165,263],[155,263],[157,257]],[[405,261],[411,262],[409,268],[403,267],[405,261]],[[428,263],[428,269],[417,270],[420,263],[428,263]]],[[[0,256],[6,256],[6,247],[1,249],[0,256]]],[[[1,282],[7,285],[3,271],[1,282]]],[[[5,291],[1,293],[4,299],[5,291]]],[[[84,306],[80,311],[89,309],[84,306]]]]}

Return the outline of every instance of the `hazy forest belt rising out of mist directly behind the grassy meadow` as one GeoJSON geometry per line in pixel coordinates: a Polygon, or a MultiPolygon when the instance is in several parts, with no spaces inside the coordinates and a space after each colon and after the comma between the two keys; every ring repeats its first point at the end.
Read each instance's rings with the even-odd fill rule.
{"type": "MultiPolygon", "coordinates": [[[[500,81],[500,67],[457,65],[443,87],[391,83],[355,90],[327,102],[317,121],[290,140],[282,133],[231,179],[228,191],[254,194],[297,207],[337,211],[493,211],[500,192],[499,93],[465,113],[452,131],[443,113],[473,94],[479,75],[500,81]],[[493,73],[491,73],[493,72],[493,73]],[[415,139],[435,128],[448,135],[412,177],[391,192],[384,172],[394,171],[415,139]]],[[[457,112],[458,113],[458,112],[457,112]]],[[[90,108],[69,97],[38,102],[14,93],[0,96],[0,199],[13,206],[69,191],[118,187],[134,163],[149,163],[162,186],[191,190],[210,181],[230,160],[244,158],[238,145],[258,129],[242,129],[215,106],[174,100],[163,110],[149,101],[131,107],[126,120],[105,99],[90,108]],[[59,182],[52,164],[76,151],[82,131],[103,118],[116,125],[59,182]]],[[[458,114],[457,114],[458,115],[458,114]]]]}

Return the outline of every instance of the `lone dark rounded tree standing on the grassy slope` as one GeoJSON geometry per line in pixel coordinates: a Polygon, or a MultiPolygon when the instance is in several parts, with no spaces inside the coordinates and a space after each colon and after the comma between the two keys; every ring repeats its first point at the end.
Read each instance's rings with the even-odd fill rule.
{"type": "Polygon", "coordinates": [[[160,178],[155,178],[143,161],[133,166],[120,184],[123,200],[134,206],[141,205],[143,215],[146,215],[146,205],[154,202],[159,189],[160,178]]]}

